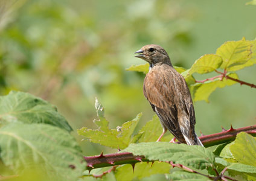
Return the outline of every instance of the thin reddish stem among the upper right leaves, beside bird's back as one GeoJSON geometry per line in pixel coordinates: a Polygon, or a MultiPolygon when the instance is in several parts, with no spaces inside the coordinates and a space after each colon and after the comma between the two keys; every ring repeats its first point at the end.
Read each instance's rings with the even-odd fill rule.
{"type": "Polygon", "coordinates": [[[220,75],[216,75],[215,77],[211,77],[211,78],[206,78],[205,80],[196,80],[197,83],[205,83],[205,81],[208,81],[208,80],[215,80],[216,78],[219,78],[219,80],[223,80],[223,78],[225,77],[226,79],[229,79],[229,80],[232,80],[232,81],[236,81],[238,83],[240,83],[240,85],[243,85],[245,84],[246,86],[250,86],[250,87],[253,87],[253,88],[256,88],[256,85],[255,84],[251,84],[251,83],[247,83],[245,81],[242,81],[242,80],[238,80],[237,78],[232,78],[230,76],[227,75],[227,72],[226,72],[226,69],[224,70],[224,72],[219,72],[217,70],[215,70],[218,74],[220,75]]]}

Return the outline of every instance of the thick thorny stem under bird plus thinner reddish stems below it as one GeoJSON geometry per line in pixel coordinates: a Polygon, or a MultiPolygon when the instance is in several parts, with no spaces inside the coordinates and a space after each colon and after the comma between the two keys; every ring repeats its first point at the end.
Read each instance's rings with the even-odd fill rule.
{"type": "MultiPolygon", "coordinates": [[[[215,133],[213,135],[203,135],[200,136],[199,139],[202,141],[203,145],[205,147],[211,147],[213,145],[222,144],[224,142],[234,141],[235,136],[240,132],[246,132],[252,136],[256,136],[256,125],[248,126],[248,127],[242,127],[240,129],[233,129],[232,125],[229,130],[225,130],[222,128],[222,132],[215,133]]],[[[146,159],[144,156],[133,156],[132,153],[124,152],[124,153],[114,153],[114,154],[103,154],[101,153],[98,156],[85,156],[84,159],[87,162],[87,169],[91,171],[94,168],[102,168],[102,167],[111,167],[109,170],[103,172],[100,175],[92,175],[93,177],[101,178],[107,173],[110,173],[111,171],[115,171],[116,165],[122,165],[122,164],[131,164],[133,169],[135,167],[135,164],[137,162],[149,162],[150,160],[146,159]]],[[[151,160],[152,161],[152,160],[151,160]]],[[[221,173],[218,173],[216,171],[216,177],[211,177],[202,173],[199,173],[197,171],[191,170],[188,167],[185,167],[181,164],[174,164],[173,162],[168,162],[173,167],[181,168],[185,171],[191,172],[191,173],[197,173],[202,176],[208,177],[211,180],[234,180],[231,177],[224,176],[225,171],[227,168],[224,168],[221,173]]],[[[153,162],[152,162],[153,164],[153,162]]]]}

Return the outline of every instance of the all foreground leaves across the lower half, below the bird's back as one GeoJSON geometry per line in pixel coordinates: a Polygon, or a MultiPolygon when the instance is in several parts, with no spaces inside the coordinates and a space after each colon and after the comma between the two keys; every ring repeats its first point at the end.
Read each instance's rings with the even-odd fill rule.
{"type": "MultiPolygon", "coordinates": [[[[6,105],[2,106],[0,114],[0,156],[3,179],[10,176],[22,179],[26,177],[24,173],[34,169],[36,169],[34,173],[36,173],[37,180],[49,180],[50,178],[77,180],[78,177],[82,177],[86,165],[85,160],[82,162],[80,147],[69,134],[70,130],[63,127],[68,123],[65,119],[60,119],[63,117],[57,113],[53,105],[22,92],[10,92],[9,95],[0,98],[1,104],[6,105]],[[34,109],[34,107],[40,109],[34,109]],[[49,113],[50,108],[54,108],[51,113],[49,113]],[[51,122],[45,121],[48,119],[51,122]],[[62,124],[53,124],[58,120],[62,121],[62,124]]],[[[231,179],[225,171],[232,177],[256,178],[256,165],[253,161],[256,139],[247,133],[238,134],[234,142],[221,145],[217,148],[218,151],[212,152],[197,145],[155,142],[158,137],[156,133],[161,134],[161,124],[156,116],[136,133],[135,128],[141,114],[117,129],[109,129],[109,122],[104,117],[104,108],[97,99],[95,109],[99,120],[94,122],[98,129],[90,130],[84,127],[78,130],[78,134],[85,136],[91,142],[107,147],[125,148],[121,153],[130,152],[135,156],[144,157],[135,157],[136,162],[141,161],[136,165],[134,160],[123,162],[123,164],[132,164],[133,167],[135,165],[135,170],[130,165],[111,168],[110,171],[114,171],[117,180],[142,179],[160,173],[167,174],[167,178],[174,180],[231,179]],[[153,162],[149,164],[142,160],[153,162]],[[186,172],[174,171],[170,174],[170,165],[186,172]],[[208,170],[208,175],[199,173],[197,170],[208,170]],[[218,172],[219,175],[216,175],[218,172]]],[[[167,136],[164,139],[168,140],[167,136]]],[[[104,155],[101,154],[98,158],[100,157],[104,158],[104,155]]],[[[109,162],[115,164],[111,160],[109,162]]],[[[110,171],[103,170],[103,174],[91,176],[103,177],[110,171]]],[[[83,175],[85,180],[89,179],[86,177],[89,176],[88,174],[83,175]]],[[[34,179],[32,176],[31,179],[34,179]]]]}

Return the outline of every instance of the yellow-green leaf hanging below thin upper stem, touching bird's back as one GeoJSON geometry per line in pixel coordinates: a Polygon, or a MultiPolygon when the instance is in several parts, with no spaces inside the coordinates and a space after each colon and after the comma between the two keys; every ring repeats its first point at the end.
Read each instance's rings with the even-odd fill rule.
{"type": "MultiPolygon", "coordinates": [[[[229,74],[229,77],[238,78],[237,74],[229,74]]],[[[225,86],[231,86],[237,83],[236,81],[228,80],[223,78],[223,80],[205,81],[205,83],[196,83],[190,87],[191,95],[194,101],[208,101],[208,97],[211,93],[217,89],[217,87],[222,88],[225,86]]]]}

